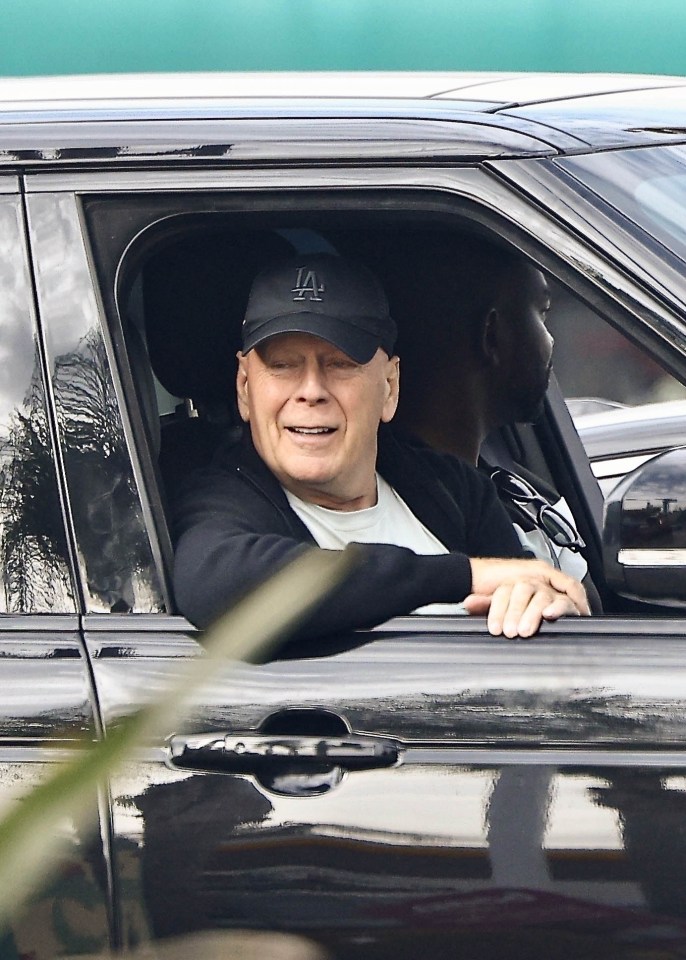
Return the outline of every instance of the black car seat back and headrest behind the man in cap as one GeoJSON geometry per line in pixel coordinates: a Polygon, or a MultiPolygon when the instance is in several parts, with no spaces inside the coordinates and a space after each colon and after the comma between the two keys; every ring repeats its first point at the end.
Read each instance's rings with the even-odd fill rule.
{"type": "MultiPolygon", "coordinates": [[[[141,294],[149,364],[177,400],[159,417],[156,453],[167,501],[193,469],[209,463],[227,431],[240,426],[235,357],[250,287],[267,263],[292,252],[273,231],[196,230],[145,263],[141,294]]],[[[155,429],[149,431],[153,437],[155,429]]]]}

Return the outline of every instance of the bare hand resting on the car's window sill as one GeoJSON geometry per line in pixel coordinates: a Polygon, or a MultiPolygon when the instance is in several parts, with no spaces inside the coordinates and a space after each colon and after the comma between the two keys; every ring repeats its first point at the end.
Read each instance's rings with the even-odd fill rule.
{"type": "Polygon", "coordinates": [[[474,559],[468,613],[488,613],[488,630],[499,637],[530,637],[542,620],[590,616],[578,580],[544,560],[474,559]]]}

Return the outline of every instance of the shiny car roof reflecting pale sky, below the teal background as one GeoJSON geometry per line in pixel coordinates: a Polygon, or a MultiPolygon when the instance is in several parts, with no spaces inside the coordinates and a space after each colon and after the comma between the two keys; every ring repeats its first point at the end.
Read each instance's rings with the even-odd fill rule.
{"type": "MultiPolygon", "coordinates": [[[[165,150],[170,158],[226,159],[227,147],[245,132],[231,122],[293,126],[313,118],[338,124],[328,126],[330,139],[347,143],[350,158],[361,160],[365,150],[353,145],[363,141],[381,144],[377,159],[399,156],[399,142],[432,140],[440,143],[424,159],[674,143],[686,141],[686,78],[441,72],[0,78],[0,163],[81,161],[97,151],[99,159],[142,160],[165,150]]],[[[303,129],[293,136],[303,138],[303,129]]],[[[263,142],[288,139],[273,126],[260,133],[255,124],[250,132],[263,142]]]]}

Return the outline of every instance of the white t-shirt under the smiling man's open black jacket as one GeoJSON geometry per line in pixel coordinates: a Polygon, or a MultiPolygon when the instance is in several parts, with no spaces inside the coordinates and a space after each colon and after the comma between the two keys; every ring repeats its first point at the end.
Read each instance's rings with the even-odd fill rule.
{"type": "MultiPolygon", "coordinates": [[[[325,550],[343,550],[349,543],[390,543],[417,554],[449,552],[378,473],[376,490],[375,505],[364,510],[329,510],[307,503],[288,490],[284,493],[316,543],[325,550]]],[[[465,612],[461,603],[431,603],[414,611],[435,616],[465,612]]]]}

